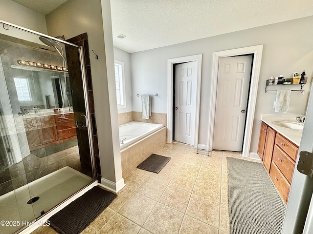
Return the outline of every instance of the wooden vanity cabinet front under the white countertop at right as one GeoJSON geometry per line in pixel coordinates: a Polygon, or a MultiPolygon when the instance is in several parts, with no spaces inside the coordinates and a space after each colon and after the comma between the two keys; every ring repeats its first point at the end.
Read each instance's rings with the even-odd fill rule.
{"type": "Polygon", "coordinates": [[[299,147],[264,122],[261,125],[258,153],[259,148],[262,150],[262,147],[264,147],[262,156],[264,166],[280,195],[287,203],[299,147]],[[264,135],[263,129],[265,128],[267,128],[266,140],[262,143],[261,137],[264,135]]]}

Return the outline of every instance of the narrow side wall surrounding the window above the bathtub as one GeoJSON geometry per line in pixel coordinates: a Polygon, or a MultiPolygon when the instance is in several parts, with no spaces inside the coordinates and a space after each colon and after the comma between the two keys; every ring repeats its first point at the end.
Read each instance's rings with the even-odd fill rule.
{"type": "Polygon", "coordinates": [[[124,62],[124,79],[126,93],[126,108],[117,109],[118,114],[133,111],[133,90],[132,90],[132,73],[131,73],[131,55],[116,47],[114,49],[114,59],[124,62]]]}

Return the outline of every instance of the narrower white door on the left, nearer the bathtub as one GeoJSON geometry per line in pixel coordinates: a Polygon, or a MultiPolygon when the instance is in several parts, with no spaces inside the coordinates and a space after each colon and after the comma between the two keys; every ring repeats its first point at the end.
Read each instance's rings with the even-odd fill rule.
{"type": "Polygon", "coordinates": [[[198,62],[175,67],[174,140],[194,145],[198,62]]]}

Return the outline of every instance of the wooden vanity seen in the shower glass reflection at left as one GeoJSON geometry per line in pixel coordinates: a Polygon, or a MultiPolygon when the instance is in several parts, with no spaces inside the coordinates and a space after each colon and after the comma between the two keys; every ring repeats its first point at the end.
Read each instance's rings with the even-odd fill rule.
{"type": "Polygon", "coordinates": [[[74,113],[23,116],[30,151],[76,137],[74,113]]]}

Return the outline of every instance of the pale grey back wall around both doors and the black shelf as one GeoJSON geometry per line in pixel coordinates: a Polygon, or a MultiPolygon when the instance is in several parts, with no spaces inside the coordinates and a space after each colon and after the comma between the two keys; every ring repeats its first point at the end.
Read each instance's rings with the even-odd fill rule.
{"type": "MultiPolygon", "coordinates": [[[[250,152],[256,152],[262,113],[274,113],[276,92],[265,94],[270,76],[292,76],[306,71],[308,84],[304,95],[292,92],[287,114],[299,115],[306,110],[313,73],[313,17],[290,20],[215,37],[199,39],[131,54],[133,93],[155,94],[152,111],[167,112],[167,59],[202,54],[199,144],[207,145],[208,106],[210,101],[212,59],[217,51],[263,44],[258,97],[250,152]]],[[[287,86],[286,86],[287,87],[287,86]]],[[[298,88],[298,86],[288,86],[298,88]]],[[[285,88],[285,87],[284,87],[285,88]]],[[[133,97],[133,111],[141,111],[140,100],[133,97]]]]}

